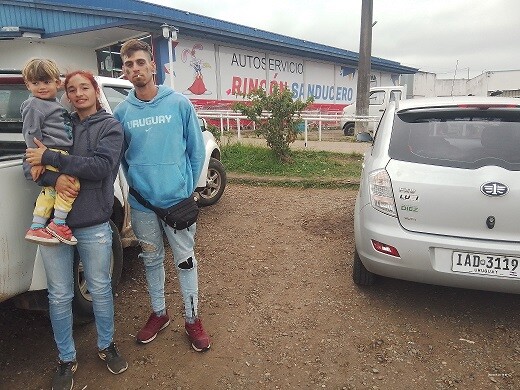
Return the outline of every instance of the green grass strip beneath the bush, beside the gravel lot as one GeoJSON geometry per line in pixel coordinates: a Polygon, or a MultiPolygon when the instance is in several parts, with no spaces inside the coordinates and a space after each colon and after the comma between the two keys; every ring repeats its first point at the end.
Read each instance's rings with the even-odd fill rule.
{"type": "Polygon", "coordinates": [[[298,187],[344,188],[356,185],[363,156],[359,153],[333,153],[291,150],[291,162],[281,163],[269,148],[242,143],[222,146],[226,171],[242,177],[239,181],[298,187]],[[253,176],[253,178],[251,178],[253,176]]]}

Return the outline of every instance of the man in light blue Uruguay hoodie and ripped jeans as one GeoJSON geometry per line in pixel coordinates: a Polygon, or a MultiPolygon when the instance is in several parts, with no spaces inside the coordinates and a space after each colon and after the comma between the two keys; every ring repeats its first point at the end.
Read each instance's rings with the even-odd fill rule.
{"type": "MultiPolygon", "coordinates": [[[[147,43],[127,41],[121,47],[121,59],[123,72],[134,85],[114,111],[125,131],[123,170],[129,186],[144,199],[155,207],[169,208],[193,196],[202,171],[205,150],[197,115],[184,95],[155,85],[156,66],[147,43]]],[[[196,224],[174,230],[133,196],[130,206],[153,310],[137,333],[137,342],[149,343],[170,324],[164,298],[164,231],[184,300],[186,334],[196,351],[207,350],[210,339],[198,317],[196,224]]]]}

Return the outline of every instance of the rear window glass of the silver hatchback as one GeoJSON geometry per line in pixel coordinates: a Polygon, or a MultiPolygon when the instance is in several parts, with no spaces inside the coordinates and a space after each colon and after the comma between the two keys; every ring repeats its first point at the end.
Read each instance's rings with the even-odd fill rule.
{"type": "Polygon", "coordinates": [[[443,107],[398,112],[389,155],[428,165],[520,170],[520,109],[443,107]]]}

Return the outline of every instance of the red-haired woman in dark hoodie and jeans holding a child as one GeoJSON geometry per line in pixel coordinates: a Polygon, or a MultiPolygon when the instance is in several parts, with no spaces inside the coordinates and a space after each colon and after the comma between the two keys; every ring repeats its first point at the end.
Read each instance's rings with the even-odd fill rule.
{"type": "MultiPolygon", "coordinates": [[[[27,149],[31,165],[52,165],[59,172],[45,171],[40,185],[52,185],[66,196],[77,196],[67,223],[77,238],[77,250],[92,296],[98,355],[113,374],[128,368],[113,341],[114,303],[110,279],[112,231],[109,219],[114,202],[114,180],[121,161],[123,129],[99,103],[99,86],[89,72],[76,71],[65,78],[72,115],[73,146],[70,155],[47,149],[27,149]],[[74,180],[81,183],[75,189],[74,180]]],[[[48,283],[49,314],[59,351],[53,389],[71,389],[76,371],[76,349],[72,337],[74,247],[40,246],[48,283]]]]}

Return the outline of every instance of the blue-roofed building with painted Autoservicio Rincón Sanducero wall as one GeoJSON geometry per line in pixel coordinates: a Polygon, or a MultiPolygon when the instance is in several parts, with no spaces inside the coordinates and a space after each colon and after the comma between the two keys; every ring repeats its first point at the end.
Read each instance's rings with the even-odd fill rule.
{"type": "MultiPolygon", "coordinates": [[[[295,99],[340,110],[356,97],[359,55],[137,0],[10,0],[0,12],[0,68],[20,69],[32,57],[54,59],[62,71],[121,75],[119,48],[129,38],[153,47],[157,82],[170,83],[197,106],[222,108],[274,84],[295,99]],[[170,74],[169,40],[175,26],[170,74]]],[[[171,40],[170,40],[171,42],[171,40]]],[[[372,57],[372,86],[396,85],[417,69],[372,57]]]]}

